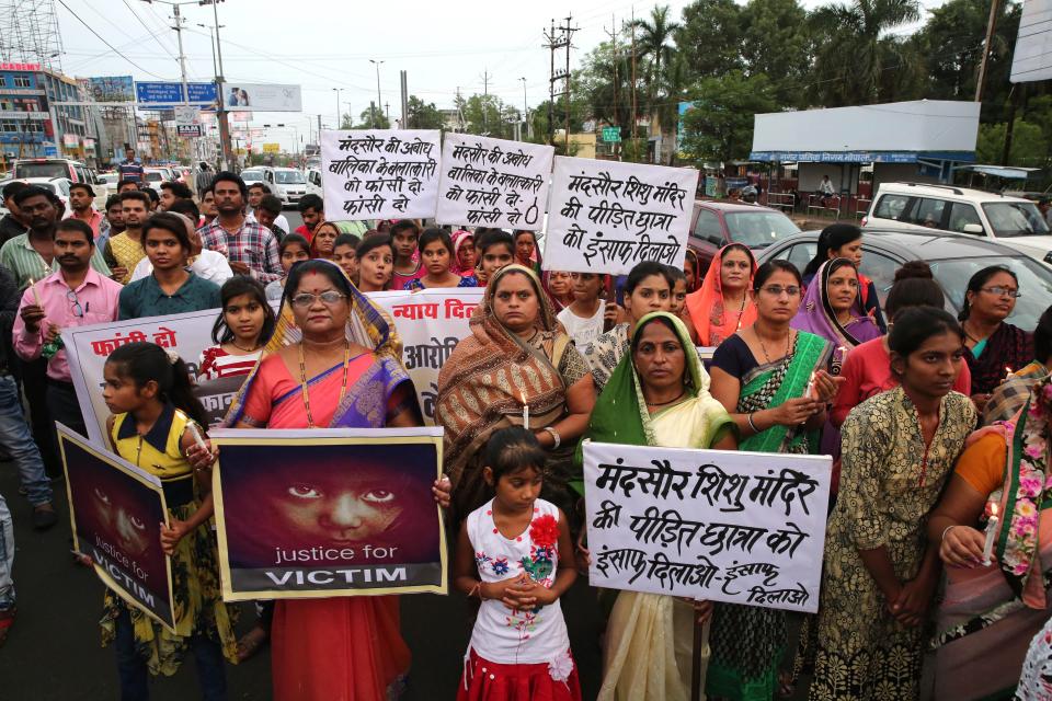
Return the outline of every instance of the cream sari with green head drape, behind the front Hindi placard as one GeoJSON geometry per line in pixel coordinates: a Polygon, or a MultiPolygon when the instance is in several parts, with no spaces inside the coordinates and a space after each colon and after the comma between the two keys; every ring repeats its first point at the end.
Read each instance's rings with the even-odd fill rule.
{"type": "MultiPolygon", "coordinates": [[[[638,336],[655,319],[668,320],[686,356],[686,399],[651,414],[631,355],[618,364],[596,401],[586,437],[631,446],[708,448],[734,425],[709,394],[709,376],[693,353],[687,326],[668,312],[653,312],[636,326],[638,336]]],[[[708,660],[708,624],[700,659],[693,659],[694,607],[672,596],[618,591],[606,633],[601,701],[686,701],[695,663],[708,660]]],[[[701,673],[705,683],[705,671],[701,673]]]]}

